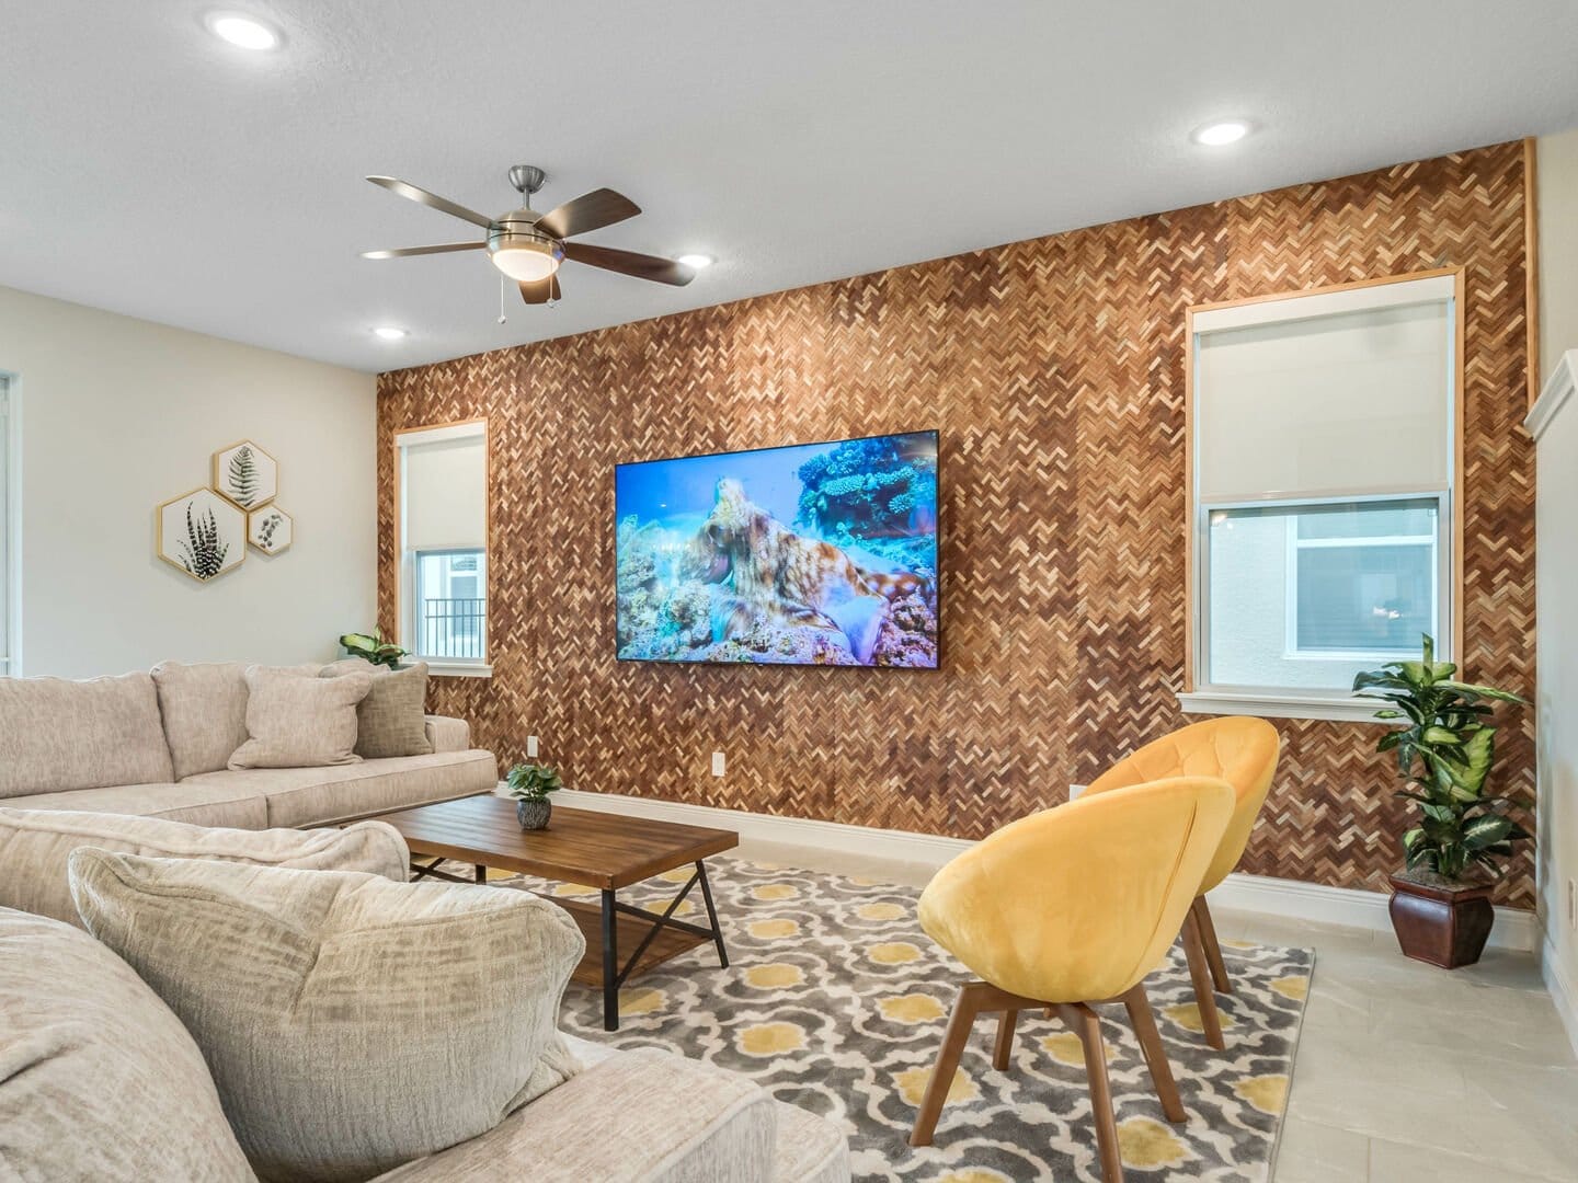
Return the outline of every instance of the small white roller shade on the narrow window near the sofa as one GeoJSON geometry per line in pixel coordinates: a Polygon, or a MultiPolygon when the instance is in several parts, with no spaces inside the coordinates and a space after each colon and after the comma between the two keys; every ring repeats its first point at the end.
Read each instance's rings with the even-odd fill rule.
{"type": "Polygon", "coordinates": [[[407,550],[486,549],[488,443],[480,423],[396,438],[407,550]]]}

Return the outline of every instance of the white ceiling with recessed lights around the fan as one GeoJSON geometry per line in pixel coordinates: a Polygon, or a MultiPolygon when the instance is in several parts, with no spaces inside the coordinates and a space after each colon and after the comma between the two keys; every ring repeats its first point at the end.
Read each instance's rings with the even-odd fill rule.
{"type": "Polygon", "coordinates": [[[0,284],[382,371],[1578,125],[1573,0],[218,6],[284,47],[0,0],[0,284]],[[497,325],[481,254],[357,257],[475,233],[365,174],[499,213],[514,162],[644,207],[587,241],[720,262],[497,325]]]}

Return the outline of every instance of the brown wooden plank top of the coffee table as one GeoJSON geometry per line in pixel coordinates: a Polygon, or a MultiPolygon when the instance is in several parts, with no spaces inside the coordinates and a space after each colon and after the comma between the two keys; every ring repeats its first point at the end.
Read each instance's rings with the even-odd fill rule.
{"type": "Polygon", "coordinates": [[[546,830],[522,830],[514,801],[481,793],[380,814],[417,855],[622,888],[740,844],[732,830],[653,822],[593,809],[562,809],[546,830]]]}

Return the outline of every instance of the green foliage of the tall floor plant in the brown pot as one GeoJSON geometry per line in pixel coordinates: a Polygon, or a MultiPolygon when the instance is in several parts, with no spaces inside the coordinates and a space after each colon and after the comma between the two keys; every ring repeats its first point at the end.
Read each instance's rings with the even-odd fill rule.
{"type": "Polygon", "coordinates": [[[1458,667],[1434,658],[1436,642],[1427,634],[1420,661],[1389,661],[1360,674],[1354,694],[1392,703],[1376,711],[1378,719],[1403,721],[1381,737],[1376,751],[1393,752],[1397,773],[1409,784],[1397,795],[1420,811],[1419,825],[1403,834],[1408,869],[1433,871],[1452,882],[1463,882],[1471,868],[1498,877],[1512,844],[1531,834],[1507,815],[1518,801],[1485,792],[1496,756],[1486,700],[1528,700],[1456,681],[1458,667]]]}

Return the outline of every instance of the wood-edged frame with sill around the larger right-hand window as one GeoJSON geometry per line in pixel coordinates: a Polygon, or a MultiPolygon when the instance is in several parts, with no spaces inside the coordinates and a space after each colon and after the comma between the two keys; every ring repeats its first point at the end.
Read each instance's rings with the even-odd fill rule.
{"type": "MultiPolygon", "coordinates": [[[[1269,506],[1305,506],[1332,505],[1344,502],[1398,502],[1434,498],[1438,503],[1436,519],[1436,579],[1438,579],[1438,655],[1450,659],[1450,655],[1461,651],[1463,637],[1463,511],[1458,494],[1463,473],[1463,333],[1464,333],[1464,268],[1447,267],[1430,271],[1411,271],[1397,276],[1381,276],[1374,279],[1359,279],[1346,284],[1330,284],[1297,292],[1278,292],[1243,300],[1226,300],[1210,304],[1195,304],[1185,311],[1184,339],[1184,453],[1185,453],[1185,655],[1184,655],[1184,691],[1177,696],[1185,713],[1198,715],[1264,715],[1270,718],[1294,719],[1346,719],[1376,722],[1378,703],[1370,699],[1356,699],[1344,691],[1316,691],[1289,686],[1239,686],[1213,685],[1201,677],[1202,662],[1210,653],[1210,514],[1220,509],[1236,508],[1269,508],[1269,506]],[[1283,301],[1305,300],[1308,297],[1330,297],[1337,293],[1362,292],[1365,289],[1382,289],[1393,284],[1409,284],[1422,279],[1450,279],[1452,295],[1449,309],[1449,349],[1452,356],[1447,364],[1450,388],[1447,391],[1450,405],[1447,409],[1449,440],[1447,440],[1447,487],[1393,487],[1384,483],[1363,489],[1344,489],[1329,492],[1321,497],[1277,495],[1267,494],[1251,500],[1237,502],[1202,502],[1199,497],[1199,432],[1195,424],[1195,386],[1199,358],[1199,338],[1202,334],[1198,317],[1229,309],[1248,309],[1261,304],[1277,304],[1283,301]],[[1445,621],[1445,628],[1441,628],[1445,621]]],[[[1370,308],[1384,308],[1397,303],[1414,303],[1398,300],[1393,293],[1376,292],[1376,300],[1370,308]]],[[[1422,303],[1422,301],[1420,301],[1422,303]]],[[[1365,308],[1363,297],[1356,300],[1356,309],[1365,308]]],[[[1261,312],[1255,309],[1245,317],[1247,323],[1270,323],[1278,319],[1288,322],[1303,320],[1326,312],[1294,312],[1277,317],[1273,309],[1261,312]],[[1253,319],[1251,319],[1253,317],[1253,319]]],[[[1207,331],[1239,328],[1243,325],[1220,325],[1207,331]]],[[[1288,562],[1296,560],[1296,552],[1289,547],[1288,562]]],[[[1296,595],[1289,584],[1289,596],[1296,595]]],[[[1296,626],[1296,618],[1289,615],[1289,629],[1296,626]]],[[[1291,648],[1291,647],[1289,647],[1291,648]]],[[[1333,656],[1333,655],[1322,655],[1333,656]]],[[[1390,658],[1387,658],[1390,659],[1390,658]]],[[[1374,664],[1379,664],[1376,661],[1374,664]]]]}

